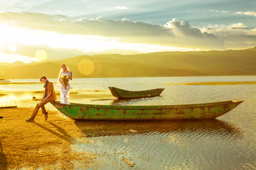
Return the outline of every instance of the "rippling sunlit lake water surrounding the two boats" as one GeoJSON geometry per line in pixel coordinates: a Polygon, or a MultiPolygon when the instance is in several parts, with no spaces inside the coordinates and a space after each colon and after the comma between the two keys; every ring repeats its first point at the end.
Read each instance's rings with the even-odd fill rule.
{"type": "MultiPolygon", "coordinates": [[[[55,82],[56,80],[50,80],[55,82]]],[[[212,121],[142,121],[111,122],[107,126],[136,127],[147,133],[91,137],[90,143],[75,143],[77,151],[92,151],[101,155],[101,169],[256,169],[256,84],[238,85],[171,85],[179,82],[256,81],[256,76],[213,76],[175,78],[84,78],[74,79],[71,102],[115,105],[165,105],[244,100],[231,112],[212,121]],[[165,88],[160,97],[118,102],[108,90],[116,86],[127,90],[165,88]],[[99,90],[99,92],[95,92],[99,90]],[[97,100],[97,99],[111,100],[97,100]],[[147,130],[145,130],[147,129],[147,130]],[[135,167],[122,161],[131,159],[135,167]]],[[[35,80],[13,80],[35,82],[35,80]]],[[[58,88],[55,87],[56,91],[58,88]]],[[[0,106],[34,107],[43,94],[43,84],[0,84],[0,106]],[[17,92],[22,90],[22,92],[17,92]],[[31,102],[32,101],[32,102],[31,102]]],[[[50,104],[48,110],[55,110],[50,104]]],[[[83,131],[83,127],[77,127],[83,131]]],[[[86,134],[86,131],[83,131],[86,134]]],[[[78,164],[78,163],[77,163],[78,164]]]]}

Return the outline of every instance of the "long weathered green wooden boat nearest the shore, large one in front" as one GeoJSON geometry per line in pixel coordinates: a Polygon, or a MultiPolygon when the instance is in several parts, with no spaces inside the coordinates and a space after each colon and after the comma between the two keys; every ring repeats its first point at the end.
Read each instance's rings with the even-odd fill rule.
{"type": "Polygon", "coordinates": [[[175,120],[218,118],[241,102],[243,100],[167,106],[61,104],[57,101],[51,104],[73,120],[175,120]]]}

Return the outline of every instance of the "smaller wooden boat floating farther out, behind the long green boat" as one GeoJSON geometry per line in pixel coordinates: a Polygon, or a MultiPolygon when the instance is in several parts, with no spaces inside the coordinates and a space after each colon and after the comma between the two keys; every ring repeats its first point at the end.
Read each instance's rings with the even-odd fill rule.
{"type": "Polygon", "coordinates": [[[156,88],[151,90],[141,90],[141,91],[130,91],[123,90],[121,88],[109,87],[111,94],[115,98],[123,99],[123,98],[148,98],[159,96],[161,92],[163,92],[165,88],[156,88]]]}

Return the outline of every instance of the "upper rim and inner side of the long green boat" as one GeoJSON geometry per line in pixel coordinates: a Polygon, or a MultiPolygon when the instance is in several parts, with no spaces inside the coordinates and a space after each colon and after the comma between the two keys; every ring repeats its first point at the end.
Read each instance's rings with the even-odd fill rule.
{"type": "MultiPolygon", "coordinates": [[[[201,107],[210,107],[210,106],[221,106],[221,105],[225,105],[225,104],[234,104],[234,103],[241,103],[241,102],[243,102],[243,100],[239,100],[237,102],[235,102],[235,100],[229,100],[229,101],[225,101],[225,102],[203,103],[204,106],[193,106],[193,105],[196,105],[196,104],[158,105],[161,108],[143,108],[143,107],[154,107],[154,106],[121,106],[120,108],[119,107],[117,107],[117,108],[116,107],[112,107],[111,105],[80,106],[80,105],[73,105],[73,103],[71,103],[71,104],[63,104],[63,105],[75,106],[75,107],[83,107],[83,108],[103,108],[103,109],[115,109],[115,110],[165,110],[165,109],[186,109],[186,108],[201,108],[201,107]],[[207,104],[209,104],[209,105],[207,105],[207,104]],[[111,107],[108,108],[107,106],[111,106],[111,107]],[[164,108],[164,106],[173,106],[173,107],[171,107],[171,108],[164,108]],[[177,107],[177,106],[187,106],[187,107],[177,107]],[[125,108],[125,107],[128,107],[128,108],[125,108]]],[[[59,101],[51,102],[51,103],[61,104],[59,101]]],[[[81,104],[81,105],[84,105],[84,104],[81,104]]]]}

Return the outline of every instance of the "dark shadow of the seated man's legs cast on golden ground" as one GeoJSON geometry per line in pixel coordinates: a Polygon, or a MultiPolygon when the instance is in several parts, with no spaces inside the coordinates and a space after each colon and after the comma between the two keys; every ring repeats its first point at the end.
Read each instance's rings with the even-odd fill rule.
{"type": "Polygon", "coordinates": [[[69,133],[67,133],[65,131],[65,129],[63,129],[51,122],[48,122],[48,123],[51,124],[52,126],[54,126],[61,134],[53,131],[52,129],[46,128],[45,126],[42,126],[41,124],[38,124],[37,122],[33,122],[33,124],[35,124],[36,126],[39,126],[39,128],[42,128],[45,131],[49,131],[50,133],[53,133],[53,135],[56,135],[57,137],[65,140],[71,144],[73,143],[73,141],[75,141],[75,138],[73,138],[71,135],[69,135],[69,133]]]}

